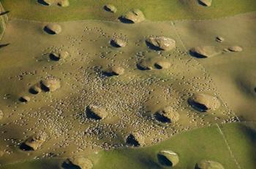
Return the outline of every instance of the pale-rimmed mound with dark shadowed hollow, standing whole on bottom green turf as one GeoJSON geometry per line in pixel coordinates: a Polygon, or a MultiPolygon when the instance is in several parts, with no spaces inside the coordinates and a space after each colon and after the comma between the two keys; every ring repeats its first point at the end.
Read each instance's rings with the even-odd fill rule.
{"type": "Polygon", "coordinates": [[[162,150],[157,154],[157,159],[161,165],[173,167],[178,164],[178,154],[170,150],[162,150]]]}

